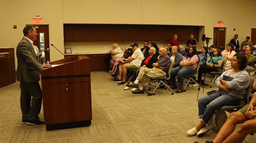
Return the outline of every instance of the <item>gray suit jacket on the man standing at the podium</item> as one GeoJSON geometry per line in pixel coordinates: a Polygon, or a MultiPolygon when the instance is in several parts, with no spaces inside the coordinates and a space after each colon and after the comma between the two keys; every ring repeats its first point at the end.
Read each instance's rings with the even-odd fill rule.
{"type": "Polygon", "coordinates": [[[38,82],[43,65],[38,62],[33,45],[23,37],[16,49],[18,59],[17,80],[22,82],[38,82]]]}

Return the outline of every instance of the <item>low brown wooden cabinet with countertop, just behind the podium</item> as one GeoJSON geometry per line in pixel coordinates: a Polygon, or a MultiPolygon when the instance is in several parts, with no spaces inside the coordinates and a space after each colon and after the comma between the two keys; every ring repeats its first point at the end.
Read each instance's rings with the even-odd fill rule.
{"type": "MultiPolygon", "coordinates": [[[[82,54],[81,54],[82,55],[82,54]]],[[[108,58],[108,54],[83,54],[90,59],[91,70],[107,70],[108,65],[105,63],[105,59],[108,58]]],[[[75,55],[65,55],[64,57],[70,57],[75,55]]]]}

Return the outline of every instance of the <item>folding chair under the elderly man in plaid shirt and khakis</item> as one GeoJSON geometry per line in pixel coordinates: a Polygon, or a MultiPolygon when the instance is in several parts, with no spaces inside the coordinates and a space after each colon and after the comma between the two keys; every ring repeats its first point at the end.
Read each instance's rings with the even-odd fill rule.
{"type": "Polygon", "coordinates": [[[167,83],[165,83],[164,81],[168,81],[170,78],[171,78],[171,69],[173,67],[173,63],[170,64],[169,68],[168,68],[168,72],[166,73],[166,76],[164,77],[147,77],[147,80],[149,81],[148,82],[148,85],[147,85],[147,88],[148,88],[148,91],[150,91],[150,87],[151,85],[154,83],[154,82],[157,82],[157,86],[155,87],[155,89],[153,90],[153,93],[148,93],[148,91],[145,90],[146,93],[148,93],[148,96],[150,95],[155,95],[155,90],[157,87],[159,87],[160,85],[161,86],[164,86],[165,88],[164,89],[170,89],[172,91],[172,95],[174,94],[173,93],[173,90],[167,85],[167,83]],[[167,88],[166,88],[167,87],[167,88]]]}

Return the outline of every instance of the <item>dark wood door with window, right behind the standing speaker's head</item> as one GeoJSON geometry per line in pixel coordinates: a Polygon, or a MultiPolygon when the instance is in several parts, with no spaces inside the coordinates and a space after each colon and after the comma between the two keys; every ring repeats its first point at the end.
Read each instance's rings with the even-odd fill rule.
{"type": "MultiPolygon", "coordinates": [[[[38,36],[34,41],[34,45],[38,47],[39,50],[50,50],[49,44],[49,25],[34,25],[38,36]]],[[[44,52],[42,56],[39,56],[39,62],[41,64],[50,62],[50,52],[44,52]],[[43,57],[44,56],[44,57],[43,57]]]]}

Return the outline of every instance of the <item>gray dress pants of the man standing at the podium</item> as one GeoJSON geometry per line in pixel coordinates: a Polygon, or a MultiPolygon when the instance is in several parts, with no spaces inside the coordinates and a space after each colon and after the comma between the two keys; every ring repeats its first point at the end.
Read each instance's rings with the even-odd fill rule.
{"type": "Polygon", "coordinates": [[[20,82],[20,108],[23,120],[39,120],[42,91],[38,82],[20,82]],[[32,99],[31,99],[32,98],[32,99]]]}

